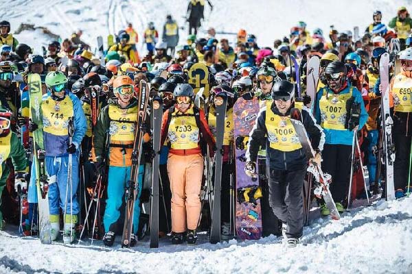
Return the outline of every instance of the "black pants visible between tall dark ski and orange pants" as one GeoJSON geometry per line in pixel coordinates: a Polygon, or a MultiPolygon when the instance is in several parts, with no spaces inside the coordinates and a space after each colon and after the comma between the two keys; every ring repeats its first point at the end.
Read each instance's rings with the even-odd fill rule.
{"type": "Polygon", "coordinates": [[[168,165],[160,164],[159,171],[159,231],[169,233],[172,229],[172,216],[170,213],[172,192],[170,191],[168,165]]]}

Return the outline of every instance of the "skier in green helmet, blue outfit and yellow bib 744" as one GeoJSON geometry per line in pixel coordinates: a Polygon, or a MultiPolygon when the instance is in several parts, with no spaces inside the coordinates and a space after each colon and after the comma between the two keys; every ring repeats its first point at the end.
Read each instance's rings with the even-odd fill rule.
{"type": "MultiPolygon", "coordinates": [[[[60,208],[64,216],[63,240],[73,242],[74,229],[78,222],[79,205],[77,200],[78,148],[86,133],[87,122],[80,99],[66,90],[67,77],[60,71],[52,71],[46,75],[47,94],[41,101],[43,124],[30,122],[30,132],[43,128],[45,146],[45,166],[49,182],[49,212],[52,225],[52,240],[56,240],[60,232],[60,208]],[[68,124],[73,118],[74,132],[69,140],[68,124]],[[73,155],[69,169],[69,154],[73,155]],[[71,171],[71,175],[69,175],[71,171]],[[71,178],[71,182],[69,179],[71,178]],[[68,190],[68,195],[66,195],[68,190]],[[67,199],[66,199],[67,198],[67,199]]],[[[30,184],[36,185],[35,169],[32,169],[30,184]]]]}

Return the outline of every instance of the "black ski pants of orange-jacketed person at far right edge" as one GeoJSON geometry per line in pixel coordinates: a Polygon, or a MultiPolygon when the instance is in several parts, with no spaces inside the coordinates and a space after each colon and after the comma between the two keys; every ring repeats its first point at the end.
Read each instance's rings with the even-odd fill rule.
{"type": "Polygon", "coordinates": [[[393,142],[396,148],[395,163],[393,164],[393,181],[395,190],[408,185],[409,157],[411,155],[411,136],[401,133],[393,133],[393,142]]]}

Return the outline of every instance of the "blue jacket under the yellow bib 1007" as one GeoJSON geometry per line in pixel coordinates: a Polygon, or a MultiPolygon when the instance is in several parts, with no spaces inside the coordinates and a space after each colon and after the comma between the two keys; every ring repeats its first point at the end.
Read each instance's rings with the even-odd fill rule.
{"type": "MultiPolygon", "coordinates": [[[[349,93],[350,88],[352,88],[352,86],[347,86],[344,90],[341,90],[339,94],[349,93]]],[[[316,103],[315,116],[316,116],[317,123],[319,125],[321,124],[321,110],[319,108],[319,101],[321,100],[321,97],[323,96],[324,92],[327,92],[327,91],[333,94],[333,91],[330,90],[328,86],[325,86],[319,90],[319,92],[317,93],[317,97],[316,97],[317,103],[316,103]]],[[[362,127],[365,125],[367,121],[367,117],[369,115],[367,114],[367,111],[365,109],[365,103],[363,103],[361,92],[355,87],[353,87],[352,97],[354,97],[356,103],[361,103],[361,117],[359,118],[359,129],[358,129],[358,130],[361,130],[362,127]]],[[[325,132],[325,143],[328,145],[352,145],[354,134],[349,129],[345,129],[345,130],[323,129],[323,132],[325,132]]]]}

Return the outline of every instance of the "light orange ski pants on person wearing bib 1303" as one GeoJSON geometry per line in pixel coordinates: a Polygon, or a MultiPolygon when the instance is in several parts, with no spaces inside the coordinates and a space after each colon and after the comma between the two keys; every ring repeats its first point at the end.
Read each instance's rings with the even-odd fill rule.
{"type": "Polygon", "coordinates": [[[170,153],[168,175],[172,191],[172,232],[196,229],[201,214],[202,155],[170,153]]]}

